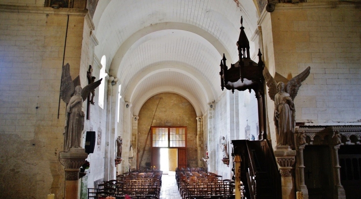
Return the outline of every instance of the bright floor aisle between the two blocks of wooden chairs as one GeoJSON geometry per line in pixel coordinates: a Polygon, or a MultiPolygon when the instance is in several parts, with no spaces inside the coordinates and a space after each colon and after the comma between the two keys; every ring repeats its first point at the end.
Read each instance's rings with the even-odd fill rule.
{"type": "Polygon", "coordinates": [[[162,175],[160,199],[181,199],[176,182],[176,172],[168,171],[168,175],[162,175]]]}

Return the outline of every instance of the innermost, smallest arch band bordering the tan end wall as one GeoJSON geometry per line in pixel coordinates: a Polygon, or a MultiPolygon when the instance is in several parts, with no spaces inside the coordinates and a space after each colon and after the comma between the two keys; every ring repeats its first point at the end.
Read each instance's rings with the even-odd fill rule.
{"type": "Polygon", "coordinates": [[[156,94],[164,93],[164,92],[170,92],[170,93],[176,93],[178,95],[181,95],[185,99],[189,101],[189,103],[193,106],[195,113],[197,114],[197,117],[202,116],[205,112],[205,107],[199,106],[199,101],[193,97],[193,95],[181,88],[173,87],[173,86],[162,86],[157,87],[152,90],[149,90],[148,92],[144,93],[142,97],[137,102],[132,102],[133,104],[133,115],[137,116],[139,115],[140,108],[143,106],[143,104],[151,97],[153,97],[156,94]],[[202,109],[201,109],[202,108],[202,109]]]}

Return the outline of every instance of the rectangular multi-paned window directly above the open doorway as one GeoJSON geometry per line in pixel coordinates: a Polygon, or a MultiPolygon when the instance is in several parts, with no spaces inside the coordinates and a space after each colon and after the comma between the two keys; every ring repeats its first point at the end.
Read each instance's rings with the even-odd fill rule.
{"type": "Polygon", "coordinates": [[[186,127],[152,127],[152,147],[186,147],[186,127]]]}

